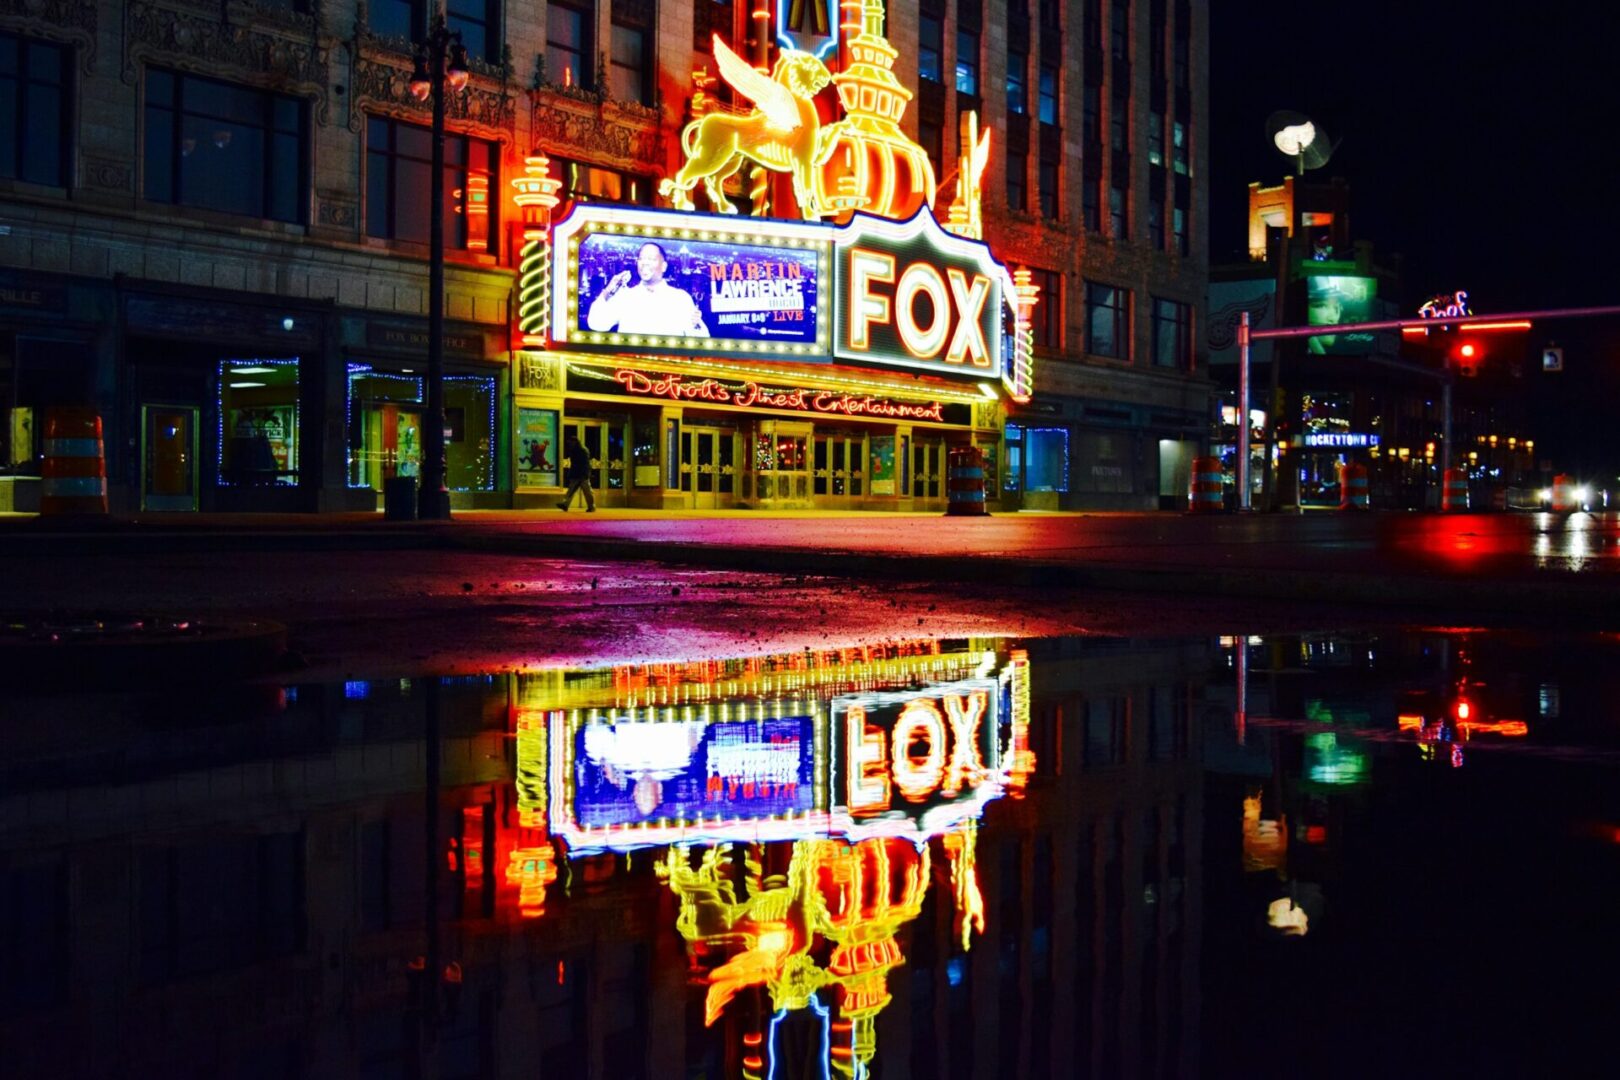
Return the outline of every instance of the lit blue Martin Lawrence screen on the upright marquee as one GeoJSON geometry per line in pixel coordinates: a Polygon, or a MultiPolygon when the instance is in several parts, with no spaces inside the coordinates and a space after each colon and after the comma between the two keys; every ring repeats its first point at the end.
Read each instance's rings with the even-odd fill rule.
{"type": "Polygon", "coordinates": [[[818,259],[816,248],[588,233],[573,329],[815,345],[818,259]]]}

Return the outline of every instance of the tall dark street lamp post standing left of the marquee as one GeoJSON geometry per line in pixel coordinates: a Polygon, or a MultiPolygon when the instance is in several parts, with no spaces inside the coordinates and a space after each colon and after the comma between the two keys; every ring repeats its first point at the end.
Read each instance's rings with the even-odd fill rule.
{"type": "Polygon", "coordinates": [[[421,440],[418,517],[446,521],[450,491],[444,468],[444,91],[467,86],[467,49],[437,13],[416,50],[410,92],[433,99],[433,165],[428,188],[428,416],[421,440]]]}

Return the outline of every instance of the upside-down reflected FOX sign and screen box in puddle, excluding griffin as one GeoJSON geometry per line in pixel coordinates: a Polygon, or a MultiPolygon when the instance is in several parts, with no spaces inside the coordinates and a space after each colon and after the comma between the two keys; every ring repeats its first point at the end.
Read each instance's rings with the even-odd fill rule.
{"type": "Polygon", "coordinates": [[[544,738],[544,793],[530,779],[520,806],[548,806],[570,855],[805,837],[925,842],[978,818],[1027,774],[1027,662],[977,649],[897,667],[909,674],[833,664],[734,680],[719,699],[640,695],[544,711],[544,724],[518,735],[520,759],[544,738]]]}

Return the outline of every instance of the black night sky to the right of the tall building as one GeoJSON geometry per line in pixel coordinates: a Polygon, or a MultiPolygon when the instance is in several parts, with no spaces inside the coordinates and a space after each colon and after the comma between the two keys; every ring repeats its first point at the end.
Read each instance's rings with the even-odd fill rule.
{"type": "MultiPolygon", "coordinates": [[[[1401,308],[1466,288],[1490,311],[1620,304],[1620,8],[1554,0],[1212,0],[1210,257],[1243,261],[1247,183],[1288,162],[1277,108],[1340,146],[1351,235],[1403,256],[1401,308]]],[[[1526,379],[1555,468],[1620,473],[1620,319],[1537,324],[1526,379]]],[[[1539,457],[1539,455],[1537,455],[1539,457]]]]}

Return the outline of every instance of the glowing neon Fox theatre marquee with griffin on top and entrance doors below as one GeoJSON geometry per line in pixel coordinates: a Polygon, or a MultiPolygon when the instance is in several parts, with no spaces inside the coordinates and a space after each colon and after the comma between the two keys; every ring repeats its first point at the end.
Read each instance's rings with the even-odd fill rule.
{"type": "Polygon", "coordinates": [[[554,499],[570,436],[606,505],[943,507],[959,445],[983,452],[1000,491],[1037,295],[980,238],[990,136],[967,121],[940,210],[933,165],[897,125],[910,92],[881,3],[844,6],[836,50],[781,36],[770,73],[714,39],[753,108],[693,99],[685,162],[661,185],[671,209],[582,202],[552,220],[544,157],[512,181],[518,505],[554,499]],[[828,84],[842,117],[821,123],[812,99],[828,84]]]}

